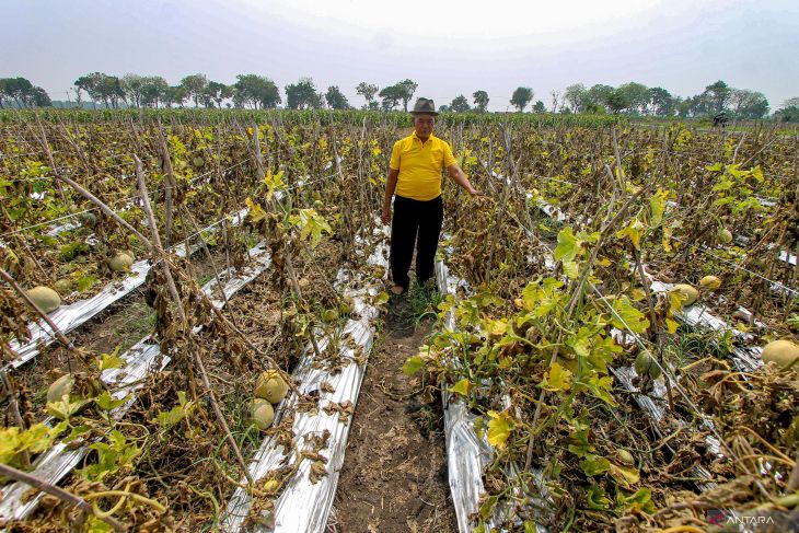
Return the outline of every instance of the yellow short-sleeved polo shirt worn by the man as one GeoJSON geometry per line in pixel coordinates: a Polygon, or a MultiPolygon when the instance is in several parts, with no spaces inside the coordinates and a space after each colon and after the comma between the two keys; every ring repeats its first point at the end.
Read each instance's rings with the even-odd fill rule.
{"type": "Polygon", "coordinates": [[[441,194],[441,169],[454,163],[447,141],[430,134],[422,144],[414,131],[396,141],[391,151],[389,166],[399,171],[395,194],[414,200],[432,200],[441,194]]]}

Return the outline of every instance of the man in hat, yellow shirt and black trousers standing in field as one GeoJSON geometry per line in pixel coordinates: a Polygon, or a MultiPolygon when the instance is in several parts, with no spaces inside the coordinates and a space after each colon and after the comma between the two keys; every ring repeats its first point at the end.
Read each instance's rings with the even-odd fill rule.
{"type": "Polygon", "coordinates": [[[477,190],[468,183],[466,174],[455,162],[450,144],[432,135],[438,115],[432,100],[419,99],[410,112],[414,132],[394,143],[385,184],[383,223],[391,217],[391,198],[394,198],[394,219],[391,224],[391,274],[394,294],[408,288],[408,269],[416,245],[416,279],[419,285],[432,278],[433,260],[443,222],[441,201],[441,169],[450,177],[475,196],[477,190]],[[418,236],[417,236],[418,234],[418,236]]]}

